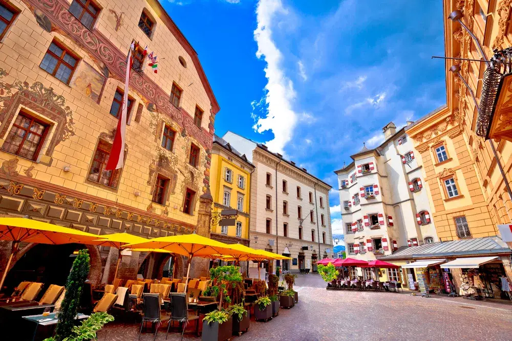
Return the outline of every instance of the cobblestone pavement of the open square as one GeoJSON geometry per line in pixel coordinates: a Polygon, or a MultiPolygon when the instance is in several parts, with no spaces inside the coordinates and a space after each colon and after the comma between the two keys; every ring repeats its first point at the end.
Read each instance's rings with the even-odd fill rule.
{"type": "MultiPolygon", "coordinates": [[[[404,291],[326,290],[318,275],[299,275],[299,301],[267,323],[251,321],[233,340],[512,340],[512,306],[461,298],[421,298],[404,291]]],[[[107,325],[101,340],[137,340],[136,324],[107,325]]],[[[165,339],[165,327],[157,340],[165,339]]],[[[187,329],[184,339],[199,340],[187,329]],[[187,334],[188,333],[188,334],[187,334]]],[[[153,335],[142,334],[141,340],[153,335]]],[[[170,340],[179,340],[177,332],[170,340]]]]}

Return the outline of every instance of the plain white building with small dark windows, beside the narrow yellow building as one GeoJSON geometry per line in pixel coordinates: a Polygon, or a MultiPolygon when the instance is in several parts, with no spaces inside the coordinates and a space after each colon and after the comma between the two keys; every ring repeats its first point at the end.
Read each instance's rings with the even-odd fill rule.
{"type": "Polygon", "coordinates": [[[332,186],[265,145],[230,131],[223,139],[255,167],[251,175],[250,246],[291,257],[291,261],[274,261],[283,270],[313,270],[314,261],[333,257],[332,186]]]}

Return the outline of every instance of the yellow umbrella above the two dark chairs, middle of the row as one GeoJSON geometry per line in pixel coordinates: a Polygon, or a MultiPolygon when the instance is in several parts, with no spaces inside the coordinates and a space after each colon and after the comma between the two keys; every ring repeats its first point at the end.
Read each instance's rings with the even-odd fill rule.
{"type": "MultiPolygon", "coordinates": [[[[193,257],[229,255],[230,252],[232,252],[230,245],[203,236],[199,236],[195,233],[189,235],[159,237],[147,240],[146,242],[143,243],[129,244],[127,246],[135,248],[161,248],[179,255],[187,256],[188,267],[185,282],[185,292],[187,290],[188,276],[190,275],[190,262],[193,257]]],[[[237,253],[243,252],[237,251],[237,253]]]]}

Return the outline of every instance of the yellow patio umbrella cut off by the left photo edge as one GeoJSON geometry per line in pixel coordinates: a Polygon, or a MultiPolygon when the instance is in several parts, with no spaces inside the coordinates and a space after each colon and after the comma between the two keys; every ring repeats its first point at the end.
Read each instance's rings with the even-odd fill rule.
{"type": "Polygon", "coordinates": [[[4,285],[7,271],[11,265],[12,257],[19,247],[19,243],[81,244],[88,243],[97,238],[97,235],[38,220],[28,218],[0,218],[0,240],[13,242],[9,260],[7,261],[4,274],[2,275],[2,280],[0,280],[0,288],[4,285]]]}

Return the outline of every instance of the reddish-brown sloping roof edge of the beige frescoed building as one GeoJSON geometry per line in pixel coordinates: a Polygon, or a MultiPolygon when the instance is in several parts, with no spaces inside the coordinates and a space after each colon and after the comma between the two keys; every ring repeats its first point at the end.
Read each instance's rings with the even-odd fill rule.
{"type": "Polygon", "coordinates": [[[192,62],[196,67],[196,71],[199,75],[199,78],[201,79],[201,83],[203,84],[206,94],[208,95],[208,99],[210,100],[211,110],[213,111],[213,113],[217,113],[220,110],[220,106],[219,103],[217,102],[217,99],[215,98],[213,90],[211,89],[210,83],[206,78],[206,74],[204,73],[203,66],[201,66],[201,62],[199,61],[199,57],[197,55],[196,50],[194,50],[190,42],[187,40],[187,38],[185,38],[183,32],[180,31],[178,26],[175,24],[173,19],[170,18],[169,14],[165,11],[165,9],[158,0],[147,0],[147,3],[157,12],[160,19],[162,19],[162,21],[165,23],[165,26],[167,26],[169,31],[173,33],[176,39],[178,39],[181,46],[183,46],[185,51],[192,59],[192,62]]]}

